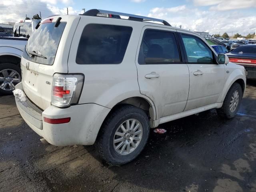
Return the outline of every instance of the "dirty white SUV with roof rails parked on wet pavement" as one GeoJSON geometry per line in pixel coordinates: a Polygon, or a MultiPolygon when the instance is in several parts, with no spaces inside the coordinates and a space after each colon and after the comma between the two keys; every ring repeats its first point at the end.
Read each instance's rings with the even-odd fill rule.
{"type": "Polygon", "coordinates": [[[246,87],[244,67],[198,34],[104,10],[42,20],[21,70],[26,123],[56,146],[96,142],[112,165],[136,158],[159,124],[212,108],[234,117],[246,87]]]}

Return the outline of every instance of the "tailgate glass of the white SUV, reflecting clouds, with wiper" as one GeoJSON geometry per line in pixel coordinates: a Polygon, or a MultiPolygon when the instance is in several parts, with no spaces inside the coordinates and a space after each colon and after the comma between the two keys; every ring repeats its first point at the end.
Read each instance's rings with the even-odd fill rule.
{"type": "Polygon", "coordinates": [[[40,64],[53,64],[66,22],[60,22],[58,27],[54,25],[55,22],[44,23],[34,30],[22,55],[25,59],[40,64]]]}

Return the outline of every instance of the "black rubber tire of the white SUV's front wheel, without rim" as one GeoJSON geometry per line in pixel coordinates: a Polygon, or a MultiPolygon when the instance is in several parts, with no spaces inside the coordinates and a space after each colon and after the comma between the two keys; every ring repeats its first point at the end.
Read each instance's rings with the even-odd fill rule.
{"type": "Polygon", "coordinates": [[[224,118],[228,118],[228,119],[233,118],[239,109],[241,100],[242,100],[242,87],[240,86],[240,84],[234,83],[228,90],[228,93],[226,95],[226,98],[223,102],[222,107],[217,109],[218,115],[221,117],[224,117],[224,118]],[[237,105],[236,109],[233,112],[231,112],[230,102],[231,102],[232,95],[236,91],[238,91],[238,93],[239,93],[239,101],[238,101],[238,105],[237,105]]]}

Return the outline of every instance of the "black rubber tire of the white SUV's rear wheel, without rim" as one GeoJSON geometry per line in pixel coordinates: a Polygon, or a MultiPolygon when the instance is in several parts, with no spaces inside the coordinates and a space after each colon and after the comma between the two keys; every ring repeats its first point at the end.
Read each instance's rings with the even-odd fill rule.
{"type": "Polygon", "coordinates": [[[142,152],[148,141],[149,132],[149,119],[146,112],[132,105],[122,105],[108,115],[100,129],[96,142],[99,154],[110,165],[126,164],[142,152]],[[129,119],[136,119],[142,125],[141,140],[130,154],[118,154],[114,149],[114,136],[119,126],[129,119]]]}

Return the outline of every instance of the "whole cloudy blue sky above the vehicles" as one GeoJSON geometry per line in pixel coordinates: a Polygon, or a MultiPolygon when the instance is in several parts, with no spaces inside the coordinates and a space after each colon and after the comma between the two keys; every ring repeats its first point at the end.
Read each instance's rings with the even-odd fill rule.
{"type": "Polygon", "coordinates": [[[256,0],[2,0],[0,22],[24,19],[26,14],[32,17],[39,11],[42,18],[66,14],[67,7],[69,14],[79,14],[82,8],[140,14],[210,34],[247,35],[256,30],[256,0]]]}

